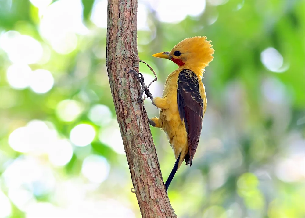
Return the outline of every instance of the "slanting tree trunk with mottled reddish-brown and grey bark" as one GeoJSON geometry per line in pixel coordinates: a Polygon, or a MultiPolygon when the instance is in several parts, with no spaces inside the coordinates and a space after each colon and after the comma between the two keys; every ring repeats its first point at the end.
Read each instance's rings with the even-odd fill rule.
{"type": "Polygon", "coordinates": [[[136,104],[137,0],[108,0],[107,71],[125,153],[142,217],[176,217],[164,189],[156,149],[142,103],[136,104]],[[139,123],[140,122],[140,123],[139,123]]]}

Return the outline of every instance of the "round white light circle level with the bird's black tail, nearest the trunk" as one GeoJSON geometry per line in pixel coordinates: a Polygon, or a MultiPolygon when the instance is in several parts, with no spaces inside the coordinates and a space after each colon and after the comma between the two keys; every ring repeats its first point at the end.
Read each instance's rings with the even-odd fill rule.
{"type": "Polygon", "coordinates": [[[102,183],[109,175],[110,165],[106,158],[90,155],[83,161],[81,173],[92,183],[102,183]]]}

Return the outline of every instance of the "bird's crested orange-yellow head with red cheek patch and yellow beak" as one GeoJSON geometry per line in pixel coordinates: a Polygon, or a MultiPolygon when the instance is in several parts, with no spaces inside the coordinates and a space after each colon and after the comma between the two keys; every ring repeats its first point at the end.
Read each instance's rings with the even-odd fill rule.
{"type": "Polygon", "coordinates": [[[206,36],[186,38],[170,52],[160,52],[152,56],[172,60],[179,68],[190,69],[202,77],[204,68],[213,60],[214,49],[210,42],[206,41],[206,36]]]}

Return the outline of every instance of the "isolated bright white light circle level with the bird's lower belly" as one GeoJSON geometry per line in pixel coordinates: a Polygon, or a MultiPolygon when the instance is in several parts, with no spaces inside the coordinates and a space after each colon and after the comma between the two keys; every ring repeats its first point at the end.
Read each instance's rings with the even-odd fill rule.
{"type": "Polygon", "coordinates": [[[70,132],[70,140],[76,146],[86,146],[90,144],[95,137],[95,129],[89,124],[79,124],[70,132]]]}

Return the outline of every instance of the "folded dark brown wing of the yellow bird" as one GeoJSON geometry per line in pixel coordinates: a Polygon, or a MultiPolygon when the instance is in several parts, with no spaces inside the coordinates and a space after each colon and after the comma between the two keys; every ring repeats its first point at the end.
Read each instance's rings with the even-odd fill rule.
{"type": "Polygon", "coordinates": [[[177,103],[181,121],[185,123],[188,134],[188,154],[185,157],[186,165],[195,155],[202,127],[203,99],[199,92],[199,81],[196,74],[188,69],[179,73],[177,103]]]}

